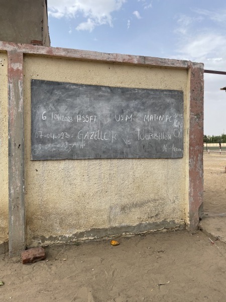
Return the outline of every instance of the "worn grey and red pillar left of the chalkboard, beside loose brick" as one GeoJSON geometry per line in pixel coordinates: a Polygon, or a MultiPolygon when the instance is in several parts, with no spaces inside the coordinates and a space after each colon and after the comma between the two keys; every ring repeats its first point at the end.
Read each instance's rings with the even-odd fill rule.
{"type": "Polygon", "coordinates": [[[23,52],[8,51],[9,255],[25,249],[23,52]]]}

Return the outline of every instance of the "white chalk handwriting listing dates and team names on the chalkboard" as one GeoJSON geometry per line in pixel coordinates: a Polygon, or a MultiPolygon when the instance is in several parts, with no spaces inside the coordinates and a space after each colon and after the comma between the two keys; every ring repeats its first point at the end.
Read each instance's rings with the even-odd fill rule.
{"type": "Polygon", "coordinates": [[[116,111],[105,111],[96,105],[84,105],[73,110],[70,108],[70,111],[63,106],[51,107],[49,111],[42,109],[38,113],[38,127],[32,133],[32,153],[54,156],[73,153],[69,158],[74,158],[76,152],[89,154],[94,148],[106,154],[112,148],[114,152],[122,149],[125,155],[130,156],[129,148],[132,152],[135,148],[138,157],[141,152],[151,153],[152,150],[156,154],[164,153],[166,158],[169,155],[181,157],[183,114],[174,108],[163,114],[161,111],[158,113],[158,107],[151,111],[153,108],[147,105],[141,112],[134,108],[117,107],[116,111]]]}

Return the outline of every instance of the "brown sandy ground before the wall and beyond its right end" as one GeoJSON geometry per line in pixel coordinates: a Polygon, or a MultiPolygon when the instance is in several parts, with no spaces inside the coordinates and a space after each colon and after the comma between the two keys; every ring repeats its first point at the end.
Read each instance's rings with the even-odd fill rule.
{"type": "MultiPolygon", "coordinates": [[[[225,166],[226,154],[204,154],[205,216],[226,213],[225,166]]],[[[46,260],[30,265],[0,255],[0,301],[226,300],[225,243],[201,231],[116,239],[116,247],[109,240],[51,246],[46,260]]]]}

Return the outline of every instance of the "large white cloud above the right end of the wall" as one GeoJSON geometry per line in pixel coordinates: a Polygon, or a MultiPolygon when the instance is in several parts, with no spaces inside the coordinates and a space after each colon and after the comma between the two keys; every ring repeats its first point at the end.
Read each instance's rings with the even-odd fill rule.
{"type": "Polygon", "coordinates": [[[208,17],[203,14],[196,17],[180,16],[177,20],[178,27],[174,30],[178,34],[175,57],[203,62],[208,66],[205,66],[206,69],[214,69],[220,65],[222,68],[222,63],[226,63],[226,37],[219,27],[206,27],[205,19],[209,15],[211,14],[208,17]]]}

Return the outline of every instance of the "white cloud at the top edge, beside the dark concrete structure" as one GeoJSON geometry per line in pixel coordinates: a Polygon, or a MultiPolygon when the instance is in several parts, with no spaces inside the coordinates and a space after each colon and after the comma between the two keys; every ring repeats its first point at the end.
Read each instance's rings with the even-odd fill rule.
{"type": "Polygon", "coordinates": [[[76,18],[82,15],[85,21],[77,30],[92,31],[96,26],[112,26],[111,14],[122,8],[126,0],[48,0],[48,14],[54,18],[76,18]]]}

